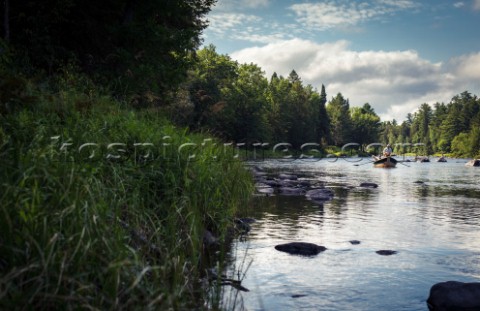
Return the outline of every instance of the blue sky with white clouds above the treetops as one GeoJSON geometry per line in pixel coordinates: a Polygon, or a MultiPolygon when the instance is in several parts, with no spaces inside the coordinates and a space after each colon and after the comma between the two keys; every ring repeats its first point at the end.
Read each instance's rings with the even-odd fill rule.
{"type": "Polygon", "coordinates": [[[480,96],[480,0],[218,0],[203,44],[401,122],[480,96]]]}

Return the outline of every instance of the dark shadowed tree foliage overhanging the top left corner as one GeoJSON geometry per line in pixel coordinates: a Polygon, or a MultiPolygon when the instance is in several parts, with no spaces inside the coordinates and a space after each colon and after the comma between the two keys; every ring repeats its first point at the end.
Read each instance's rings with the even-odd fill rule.
{"type": "Polygon", "coordinates": [[[10,1],[10,43],[35,69],[75,61],[119,96],[163,93],[185,79],[214,2],[10,1]]]}

